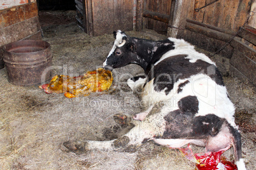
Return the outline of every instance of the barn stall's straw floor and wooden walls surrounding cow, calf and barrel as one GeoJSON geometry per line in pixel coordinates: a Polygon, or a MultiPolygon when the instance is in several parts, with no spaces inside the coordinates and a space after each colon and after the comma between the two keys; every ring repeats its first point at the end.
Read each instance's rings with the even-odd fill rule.
{"type": "MultiPolygon", "coordinates": [[[[171,36],[194,44],[217,63],[224,76],[236,106],[243,158],[247,169],[254,169],[254,1],[77,0],[73,2],[75,10],[65,11],[53,10],[60,10],[60,3],[53,7],[47,4],[46,11],[43,1],[8,2],[1,4],[1,48],[20,39],[49,42],[52,76],[77,76],[101,67],[113,45],[112,32],[117,29],[134,37],[159,40],[171,36]]],[[[40,84],[14,85],[8,81],[6,68],[1,69],[1,168],[195,169],[178,149],[152,141],[134,153],[91,150],[75,154],[62,146],[67,140],[110,140],[111,133],[118,131],[113,115],[140,112],[139,99],[126,80],[141,72],[138,65],[115,69],[110,91],[69,99],[43,93],[40,84]]],[[[204,151],[194,145],[192,149],[195,153],[204,151]]],[[[224,156],[234,160],[232,148],[224,156]]]]}

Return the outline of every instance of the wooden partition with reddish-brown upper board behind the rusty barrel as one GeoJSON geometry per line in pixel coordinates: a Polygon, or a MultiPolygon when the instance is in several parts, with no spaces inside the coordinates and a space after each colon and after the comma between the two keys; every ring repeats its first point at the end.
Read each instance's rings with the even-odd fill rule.
{"type": "Polygon", "coordinates": [[[0,35],[0,68],[3,68],[1,46],[20,39],[41,39],[36,2],[0,10],[0,35]]]}

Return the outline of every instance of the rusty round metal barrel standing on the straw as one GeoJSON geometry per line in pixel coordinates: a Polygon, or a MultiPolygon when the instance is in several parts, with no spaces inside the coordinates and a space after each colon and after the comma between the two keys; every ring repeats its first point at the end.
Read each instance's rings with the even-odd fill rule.
{"type": "Polygon", "coordinates": [[[41,84],[51,78],[50,44],[41,40],[21,40],[4,46],[3,60],[8,81],[15,85],[41,84]]]}

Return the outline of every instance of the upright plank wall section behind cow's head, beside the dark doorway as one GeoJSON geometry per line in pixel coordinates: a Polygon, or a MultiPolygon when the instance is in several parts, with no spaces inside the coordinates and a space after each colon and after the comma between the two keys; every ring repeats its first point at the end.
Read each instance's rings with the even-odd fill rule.
{"type": "Polygon", "coordinates": [[[83,0],[85,3],[85,32],[92,36],[112,34],[114,30],[132,30],[134,1],[83,0]]]}

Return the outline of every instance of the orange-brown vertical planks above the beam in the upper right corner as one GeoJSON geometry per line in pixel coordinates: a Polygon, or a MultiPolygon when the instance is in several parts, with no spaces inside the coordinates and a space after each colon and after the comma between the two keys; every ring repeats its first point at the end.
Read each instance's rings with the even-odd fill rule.
{"type": "Polygon", "coordinates": [[[194,10],[212,1],[188,1],[190,4],[188,4],[187,18],[235,32],[245,23],[252,3],[252,0],[219,0],[199,10],[199,12],[194,10]]]}

